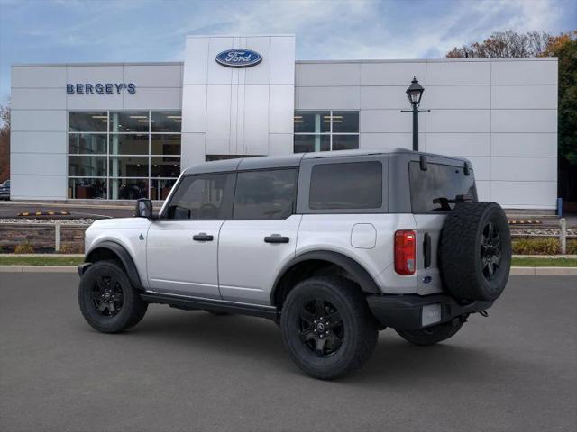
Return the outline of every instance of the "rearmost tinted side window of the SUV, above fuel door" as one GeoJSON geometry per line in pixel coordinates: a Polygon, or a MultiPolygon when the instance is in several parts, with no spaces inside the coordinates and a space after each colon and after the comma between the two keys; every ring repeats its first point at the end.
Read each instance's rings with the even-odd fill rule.
{"type": "Polygon", "coordinates": [[[382,164],[370,161],[313,166],[308,205],[311,210],[379,209],[382,164]]]}

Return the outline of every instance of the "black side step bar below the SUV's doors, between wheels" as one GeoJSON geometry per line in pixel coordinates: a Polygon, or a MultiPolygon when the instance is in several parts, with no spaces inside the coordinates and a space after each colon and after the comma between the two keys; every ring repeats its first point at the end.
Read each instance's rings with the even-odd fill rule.
{"type": "Polygon", "coordinates": [[[272,306],[260,306],[258,304],[246,304],[236,302],[225,302],[224,300],[204,299],[200,297],[185,297],[164,293],[142,293],[144,302],[168,304],[173,308],[185,311],[208,310],[229,312],[240,315],[251,315],[253,317],[268,318],[278,321],[279,311],[272,306]]]}

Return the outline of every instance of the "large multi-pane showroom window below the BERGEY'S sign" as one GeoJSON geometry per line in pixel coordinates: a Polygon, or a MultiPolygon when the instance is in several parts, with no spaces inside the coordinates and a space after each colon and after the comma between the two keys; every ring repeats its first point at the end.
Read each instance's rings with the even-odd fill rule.
{"type": "Polygon", "coordinates": [[[180,174],[181,113],[69,112],[71,199],[164,200],[180,174]]]}

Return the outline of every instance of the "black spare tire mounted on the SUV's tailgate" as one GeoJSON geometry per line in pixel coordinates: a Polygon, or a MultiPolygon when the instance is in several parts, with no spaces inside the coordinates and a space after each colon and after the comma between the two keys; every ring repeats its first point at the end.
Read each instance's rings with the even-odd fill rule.
{"type": "Polygon", "coordinates": [[[439,260],[445,289],[457,300],[496,300],[511,266],[511,233],[499,204],[457,203],[444,220],[439,260]]]}

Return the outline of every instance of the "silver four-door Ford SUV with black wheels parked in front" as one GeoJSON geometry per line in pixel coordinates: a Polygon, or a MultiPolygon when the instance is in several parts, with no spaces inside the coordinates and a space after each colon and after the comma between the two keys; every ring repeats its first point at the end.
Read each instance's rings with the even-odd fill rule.
{"type": "Polygon", "coordinates": [[[378,331],[428,346],[502,293],[510,233],[478,202],[462,158],[405,149],[246,157],[186,169],[158,215],[86,232],[78,301],[95,329],[149,303],[279,323],[295,363],[331,379],[361,367],[378,331]]]}

